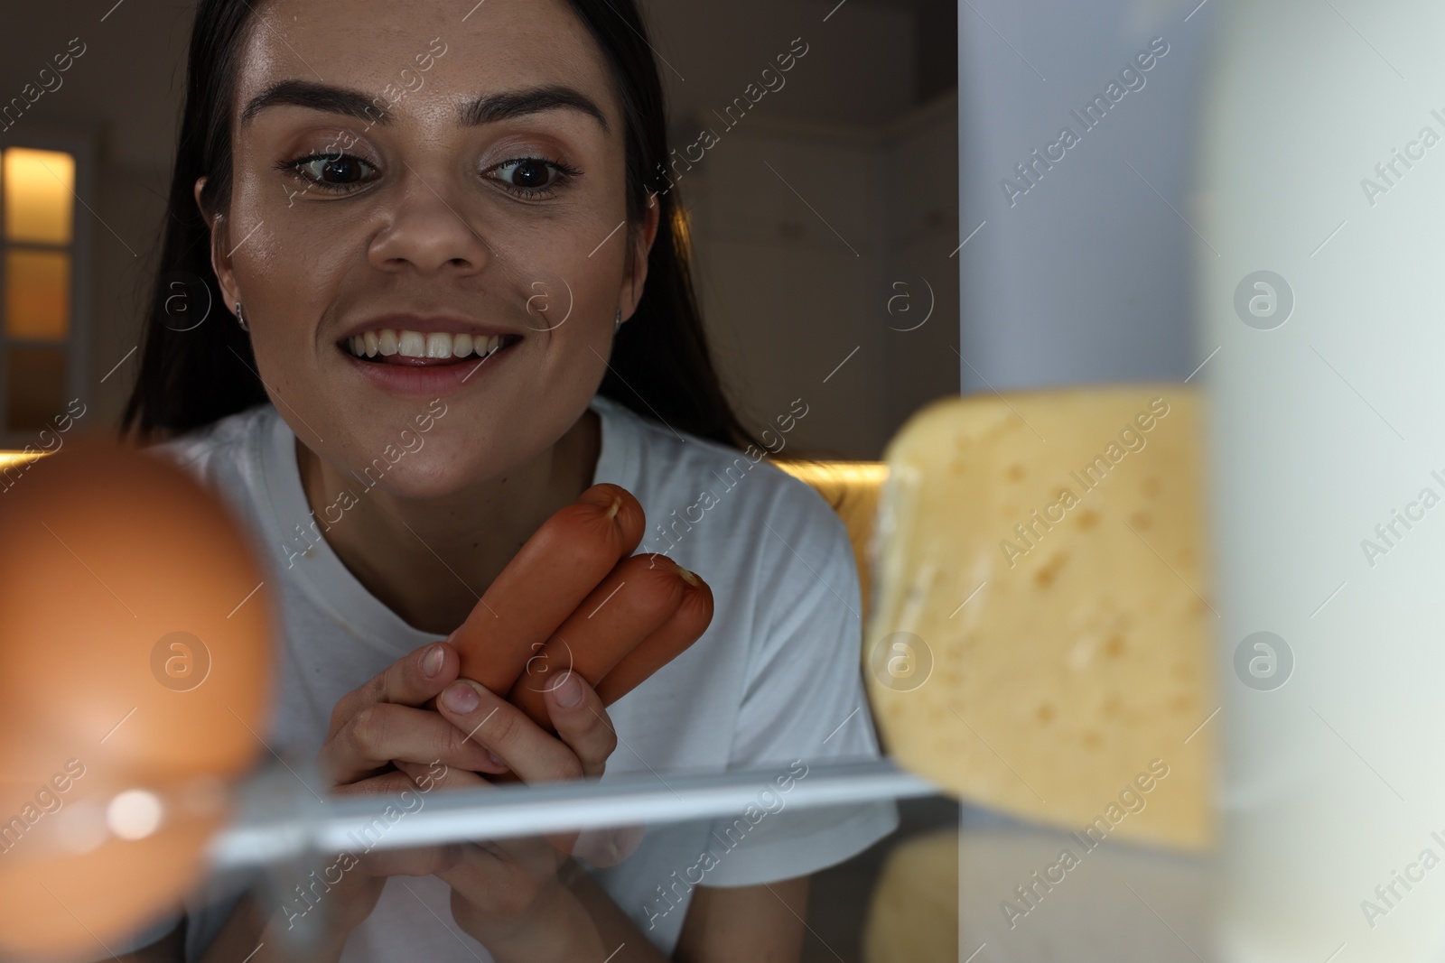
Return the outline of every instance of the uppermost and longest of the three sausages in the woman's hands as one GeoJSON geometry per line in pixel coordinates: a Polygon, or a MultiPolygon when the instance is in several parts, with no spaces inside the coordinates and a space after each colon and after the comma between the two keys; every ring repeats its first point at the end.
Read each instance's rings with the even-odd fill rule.
{"type": "Polygon", "coordinates": [[[592,485],[542,523],[451,635],[461,674],[510,692],[527,660],[642,541],[643,511],[618,485],[592,485]]]}

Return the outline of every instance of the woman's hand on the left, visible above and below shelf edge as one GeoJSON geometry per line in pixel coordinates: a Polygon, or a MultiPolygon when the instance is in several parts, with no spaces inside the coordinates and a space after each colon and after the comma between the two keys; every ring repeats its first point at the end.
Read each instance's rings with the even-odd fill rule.
{"type": "MultiPolygon", "coordinates": [[[[328,787],[340,796],[418,793],[418,783],[403,768],[422,778],[428,771],[435,775],[432,767],[438,762],[451,772],[506,772],[507,767],[481,744],[422,707],[455,681],[460,666],[455,648],[432,642],[342,696],[331,713],[327,742],[316,758],[328,787]]],[[[354,855],[357,862],[344,869],[341,882],[334,884],[318,905],[342,936],[370,915],[386,876],[438,873],[457,863],[461,847],[379,849],[354,855]]]]}

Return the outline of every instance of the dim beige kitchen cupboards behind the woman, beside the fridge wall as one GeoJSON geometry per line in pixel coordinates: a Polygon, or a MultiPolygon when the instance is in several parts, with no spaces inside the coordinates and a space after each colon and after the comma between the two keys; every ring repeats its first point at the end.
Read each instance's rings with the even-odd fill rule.
{"type": "Polygon", "coordinates": [[[727,137],[679,182],[724,372],[759,423],[802,397],[809,453],[879,458],[958,390],[955,98],[889,126],[727,137]]]}

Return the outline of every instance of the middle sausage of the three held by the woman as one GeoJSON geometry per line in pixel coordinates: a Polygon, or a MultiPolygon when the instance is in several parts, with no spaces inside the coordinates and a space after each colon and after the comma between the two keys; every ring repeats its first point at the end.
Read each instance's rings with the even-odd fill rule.
{"type": "MultiPolygon", "coordinates": [[[[689,589],[685,579],[701,585],[695,575],[662,554],[634,554],[618,562],[527,660],[507,700],[551,731],[543,693],[552,679],[571,668],[595,686],[673,616],[689,589]]],[[[660,666],[650,666],[646,674],[660,666]]]]}

